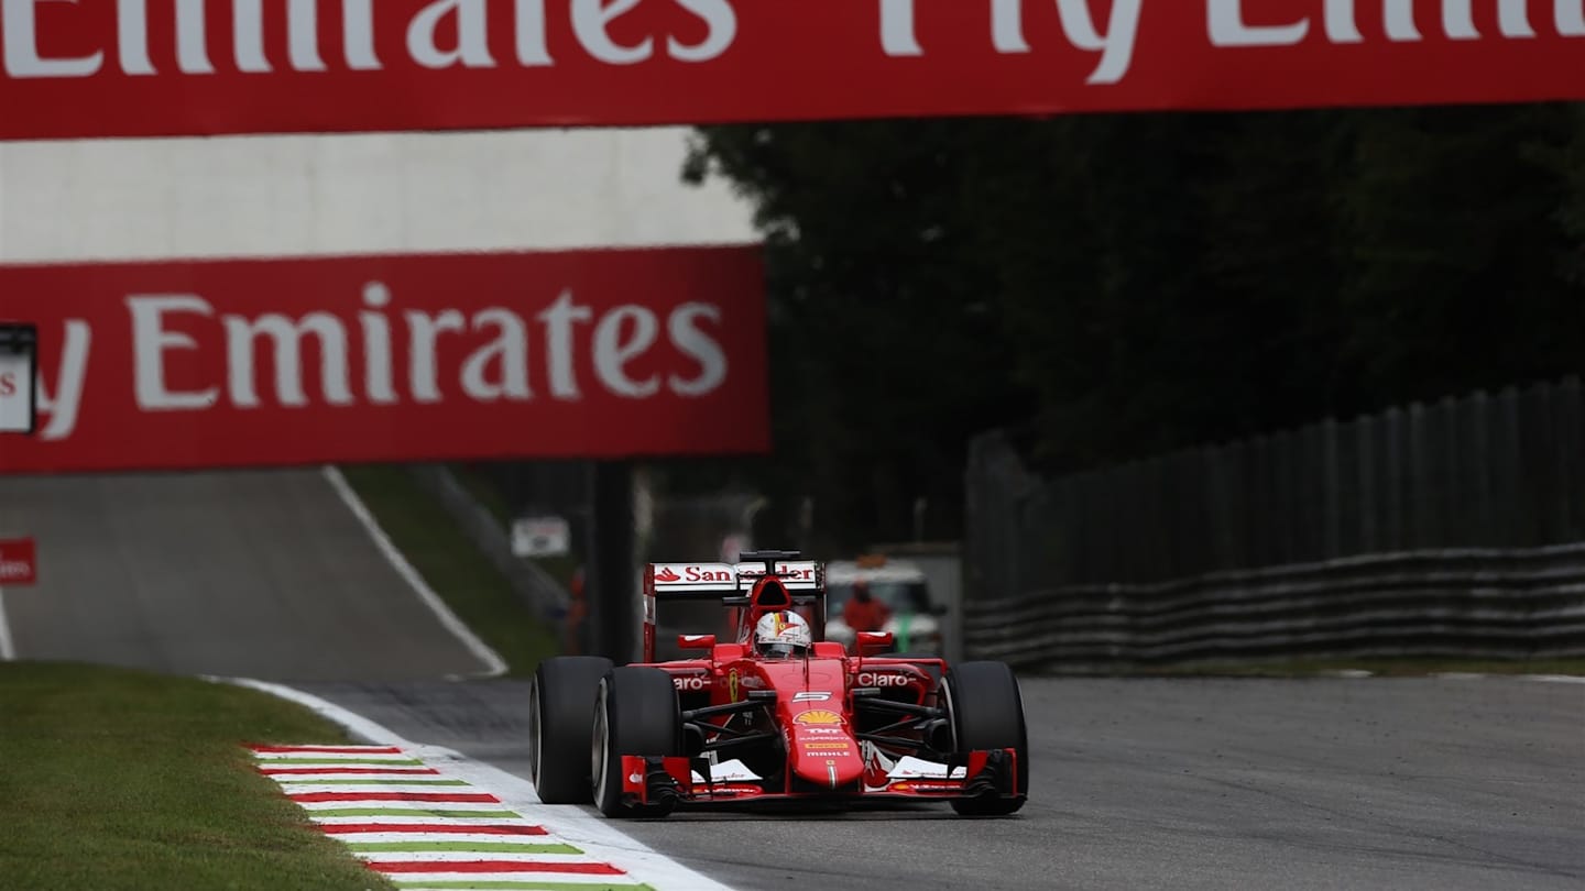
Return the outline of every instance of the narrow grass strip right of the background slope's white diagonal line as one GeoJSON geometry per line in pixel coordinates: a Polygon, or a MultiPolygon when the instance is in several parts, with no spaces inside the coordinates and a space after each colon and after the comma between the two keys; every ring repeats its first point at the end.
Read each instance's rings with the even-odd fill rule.
{"type": "Polygon", "coordinates": [[[509,666],[510,677],[531,677],[539,661],[560,652],[555,633],[496,572],[450,514],[404,468],[342,468],[391,544],[423,580],[509,666]]]}

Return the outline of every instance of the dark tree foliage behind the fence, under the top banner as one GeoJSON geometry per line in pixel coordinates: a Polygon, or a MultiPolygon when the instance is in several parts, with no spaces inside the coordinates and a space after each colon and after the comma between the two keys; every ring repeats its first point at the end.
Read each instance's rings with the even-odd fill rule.
{"type": "Polygon", "coordinates": [[[750,472],[842,547],[956,534],[992,426],[1059,472],[1585,368],[1579,106],[710,127],[707,176],[767,243],[750,472]]]}

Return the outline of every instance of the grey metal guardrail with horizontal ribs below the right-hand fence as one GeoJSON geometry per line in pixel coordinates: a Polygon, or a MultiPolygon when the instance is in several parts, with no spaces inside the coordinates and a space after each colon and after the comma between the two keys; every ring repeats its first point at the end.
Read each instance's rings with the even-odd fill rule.
{"type": "Polygon", "coordinates": [[[1585,544],[1363,555],[967,604],[968,658],[1585,656],[1585,544]]]}

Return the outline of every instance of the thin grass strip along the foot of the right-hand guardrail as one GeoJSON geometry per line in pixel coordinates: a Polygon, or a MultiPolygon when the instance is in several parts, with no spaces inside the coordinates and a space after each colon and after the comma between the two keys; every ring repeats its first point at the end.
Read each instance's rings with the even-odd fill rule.
{"type": "Polygon", "coordinates": [[[1330,677],[1339,672],[1376,677],[1428,677],[1434,674],[1568,674],[1585,675],[1585,660],[1460,660],[1460,658],[1316,658],[1271,661],[1205,661],[1168,666],[1095,666],[1059,669],[1054,674],[1129,677],[1330,677]]]}

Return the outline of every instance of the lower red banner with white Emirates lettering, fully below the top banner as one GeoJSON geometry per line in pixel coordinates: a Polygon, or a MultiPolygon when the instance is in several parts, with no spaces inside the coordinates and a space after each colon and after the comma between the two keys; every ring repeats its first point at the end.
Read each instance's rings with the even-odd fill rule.
{"type": "Polygon", "coordinates": [[[0,474],[761,453],[758,247],[0,266],[0,474]]]}

